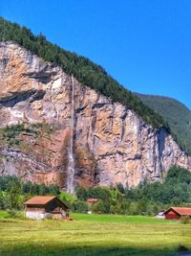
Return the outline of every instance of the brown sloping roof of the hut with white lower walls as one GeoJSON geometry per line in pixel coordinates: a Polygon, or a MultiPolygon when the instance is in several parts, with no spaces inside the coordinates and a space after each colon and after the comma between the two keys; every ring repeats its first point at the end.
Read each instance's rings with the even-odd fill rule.
{"type": "Polygon", "coordinates": [[[59,198],[55,197],[55,196],[39,196],[39,197],[33,197],[29,200],[27,200],[26,202],[24,202],[24,204],[28,204],[28,205],[45,205],[48,202],[50,202],[53,199],[57,199],[59,200],[62,204],[64,204],[67,208],[69,208],[69,206],[67,205],[67,203],[61,201],[59,198]]]}

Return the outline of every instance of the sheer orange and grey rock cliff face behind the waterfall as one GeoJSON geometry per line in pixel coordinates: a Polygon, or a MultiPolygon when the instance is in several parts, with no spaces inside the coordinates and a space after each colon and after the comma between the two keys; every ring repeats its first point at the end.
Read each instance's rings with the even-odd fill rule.
{"type": "MultiPolygon", "coordinates": [[[[0,44],[0,175],[66,187],[71,101],[72,80],[61,68],[11,42],[0,44]],[[9,140],[6,127],[19,123],[25,129],[9,140]]],[[[75,183],[83,186],[131,187],[161,179],[175,164],[191,170],[191,158],[164,128],[76,80],[74,162],[75,183]]]]}

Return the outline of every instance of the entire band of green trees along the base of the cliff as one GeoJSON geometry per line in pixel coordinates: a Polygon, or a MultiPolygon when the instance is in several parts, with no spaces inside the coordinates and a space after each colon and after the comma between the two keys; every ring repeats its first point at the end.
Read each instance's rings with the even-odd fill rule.
{"type": "Polygon", "coordinates": [[[191,173],[174,166],[163,182],[144,181],[136,188],[116,187],[76,188],[72,196],[60,191],[56,185],[23,182],[16,176],[0,176],[0,209],[23,209],[25,200],[33,196],[53,195],[65,200],[77,213],[91,210],[97,214],[156,215],[170,206],[181,206],[191,202],[191,173]],[[97,198],[94,204],[88,198],[97,198]]]}

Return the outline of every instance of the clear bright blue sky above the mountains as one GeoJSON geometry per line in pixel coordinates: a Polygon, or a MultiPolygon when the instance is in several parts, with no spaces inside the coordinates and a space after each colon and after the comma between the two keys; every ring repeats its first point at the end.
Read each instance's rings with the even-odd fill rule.
{"type": "Polygon", "coordinates": [[[132,91],[191,108],[190,0],[0,0],[0,15],[91,58],[132,91]]]}

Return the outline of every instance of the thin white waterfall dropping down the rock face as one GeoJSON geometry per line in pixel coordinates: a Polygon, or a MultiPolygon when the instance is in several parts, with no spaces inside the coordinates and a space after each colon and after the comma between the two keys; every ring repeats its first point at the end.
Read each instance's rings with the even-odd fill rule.
{"type": "Polygon", "coordinates": [[[74,194],[74,77],[71,77],[71,138],[68,151],[67,191],[74,194]]]}

